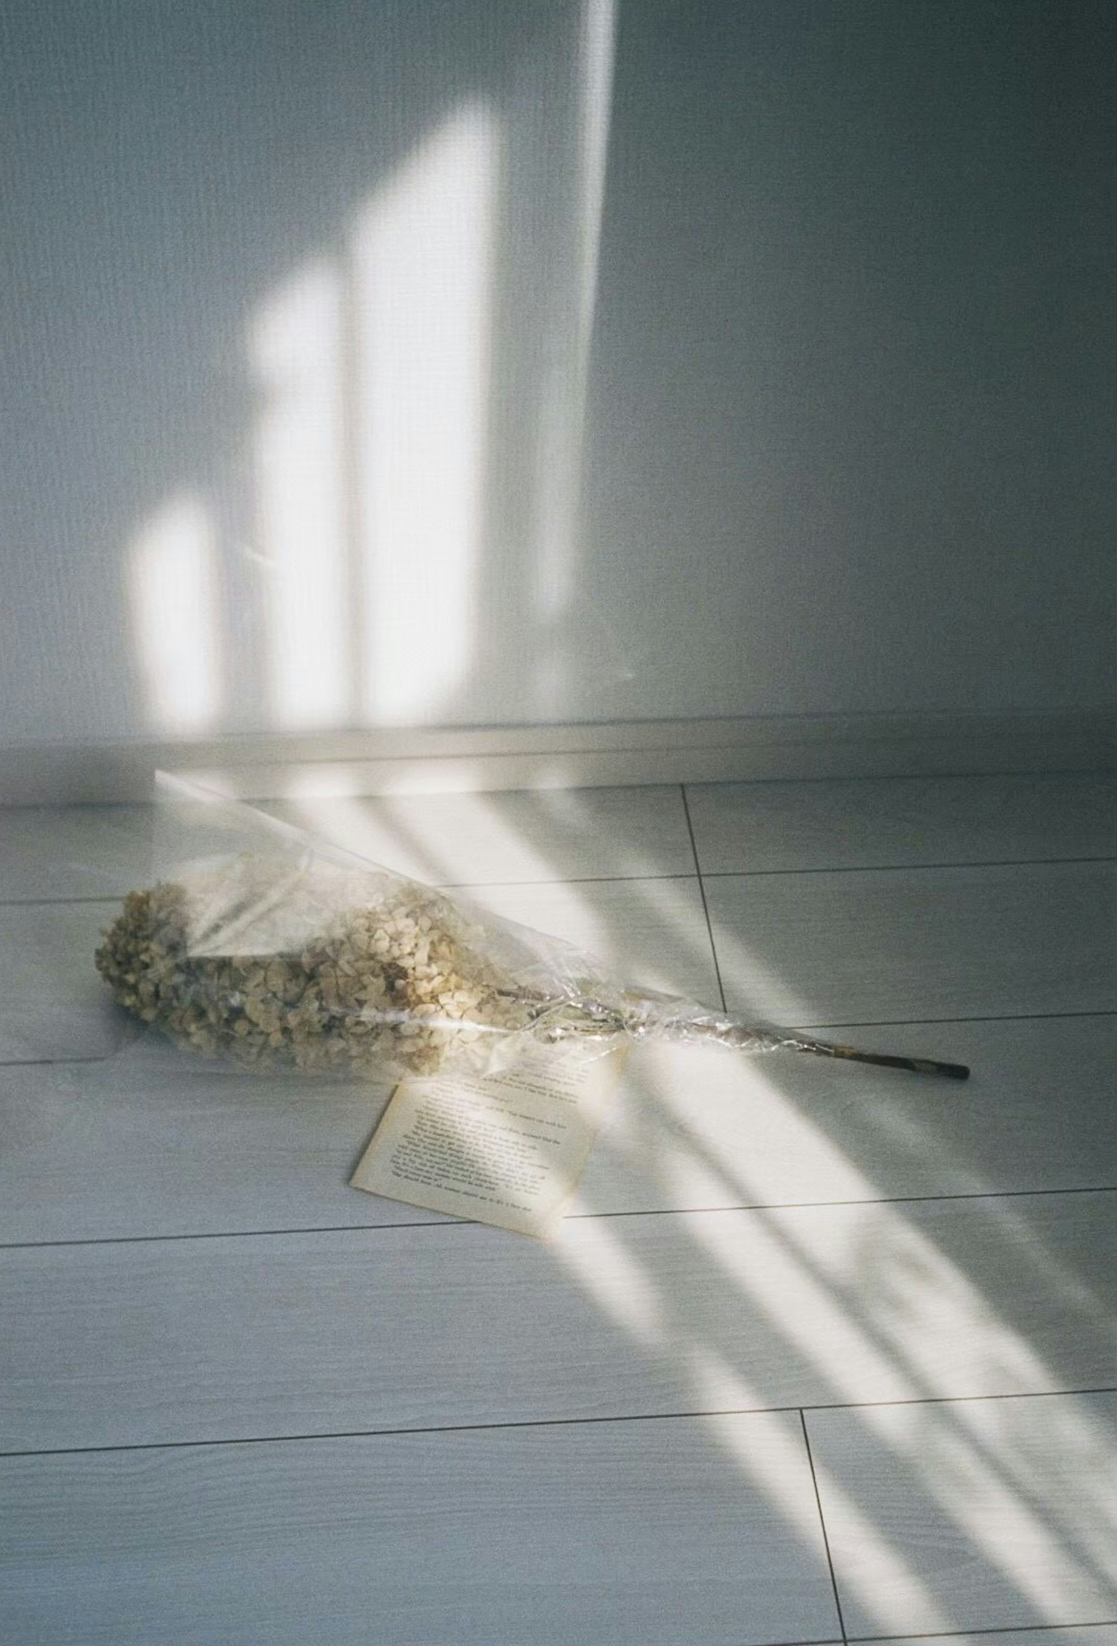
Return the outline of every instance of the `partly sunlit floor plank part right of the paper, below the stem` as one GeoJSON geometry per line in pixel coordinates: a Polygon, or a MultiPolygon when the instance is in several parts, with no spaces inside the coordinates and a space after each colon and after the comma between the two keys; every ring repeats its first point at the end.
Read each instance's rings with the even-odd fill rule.
{"type": "Polygon", "coordinates": [[[842,1034],[972,1073],[959,1085],[790,1052],[635,1052],[582,1202],[655,1211],[1114,1183],[1112,1017],[842,1034]]]}

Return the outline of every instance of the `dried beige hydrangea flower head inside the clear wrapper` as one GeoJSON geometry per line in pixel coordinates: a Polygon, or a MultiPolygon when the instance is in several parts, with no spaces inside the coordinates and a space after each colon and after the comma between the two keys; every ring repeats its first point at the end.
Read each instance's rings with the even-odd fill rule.
{"type": "Polygon", "coordinates": [[[130,892],[95,960],[120,1006],[196,1052],[429,1073],[528,1022],[484,935],[411,881],[245,854],[130,892]]]}

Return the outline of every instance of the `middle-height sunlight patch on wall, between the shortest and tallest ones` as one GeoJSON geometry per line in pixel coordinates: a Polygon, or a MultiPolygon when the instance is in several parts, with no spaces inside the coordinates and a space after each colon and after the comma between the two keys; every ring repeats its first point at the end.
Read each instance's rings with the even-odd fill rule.
{"type": "Polygon", "coordinates": [[[265,390],[253,439],[257,553],[270,721],[344,723],[349,617],[341,387],[342,283],[311,265],[257,314],[252,367],[265,390]]]}

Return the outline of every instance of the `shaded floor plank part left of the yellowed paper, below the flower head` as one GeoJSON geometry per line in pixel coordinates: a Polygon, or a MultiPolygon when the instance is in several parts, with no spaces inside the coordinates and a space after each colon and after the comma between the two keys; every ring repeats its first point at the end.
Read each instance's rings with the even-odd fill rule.
{"type": "Polygon", "coordinates": [[[349,1187],[388,1095],[250,1075],[155,1034],[0,1068],[0,1243],[441,1221],[349,1187]]]}

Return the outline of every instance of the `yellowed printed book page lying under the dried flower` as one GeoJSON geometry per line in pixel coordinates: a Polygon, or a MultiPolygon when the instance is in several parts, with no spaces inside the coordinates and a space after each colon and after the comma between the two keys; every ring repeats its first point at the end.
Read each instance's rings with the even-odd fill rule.
{"type": "Polygon", "coordinates": [[[492,1075],[401,1081],[350,1182],[390,1200],[548,1236],[617,1088],[625,1047],[530,1047],[492,1075]]]}

